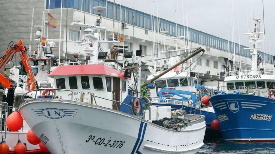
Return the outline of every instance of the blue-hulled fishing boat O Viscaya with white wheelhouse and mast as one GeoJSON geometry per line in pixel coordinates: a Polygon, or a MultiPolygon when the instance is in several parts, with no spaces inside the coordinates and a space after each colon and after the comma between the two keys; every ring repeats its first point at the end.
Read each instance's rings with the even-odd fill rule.
{"type": "Polygon", "coordinates": [[[275,76],[271,70],[260,68],[261,58],[257,51],[260,40],[259,19],[253,33],[248,33],[252,55],[252,67],[247,71],[227,72],[226,94],[209,98],[220,121],[220,131],[225,140],[236,142],[274,142],[275,76]]]}

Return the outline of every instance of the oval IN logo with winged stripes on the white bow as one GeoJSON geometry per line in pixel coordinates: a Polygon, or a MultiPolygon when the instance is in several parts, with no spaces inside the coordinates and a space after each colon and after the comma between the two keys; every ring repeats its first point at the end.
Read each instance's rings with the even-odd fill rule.
{"type": "Polygon", "coordinates": [[[46,108],[46,109],[32,109],[33,113],[39,116],[45,116],[50,119],[59,119],[64,116],[72,116],[78,112],[78,109],[57,109],[57,108],[46,108]]]}

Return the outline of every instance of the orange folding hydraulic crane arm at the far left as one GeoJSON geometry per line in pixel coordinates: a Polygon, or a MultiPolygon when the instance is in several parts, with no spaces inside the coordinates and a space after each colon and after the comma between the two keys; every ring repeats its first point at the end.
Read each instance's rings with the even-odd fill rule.
{"type": "Polygon", "coordinates": [[[0,83],[3,87],[7,88],[8,90],[14,91],[17,84],[7,75],[5,75],[2,71],[4,70],[6,64],[12,59],[14,54],[17,52],[19,53],[20,58],[22,60],[22,64],[24,65],[24,68],[27,72],[28,91],[36,89],[35,79],[30,65],[30,61],[27,57],[26,48],[22,45],[22,43],[22,40],[19,40],[17,44],[11,45],[6,50],[5,54],[2,57],[0,57],[0,83]]]}

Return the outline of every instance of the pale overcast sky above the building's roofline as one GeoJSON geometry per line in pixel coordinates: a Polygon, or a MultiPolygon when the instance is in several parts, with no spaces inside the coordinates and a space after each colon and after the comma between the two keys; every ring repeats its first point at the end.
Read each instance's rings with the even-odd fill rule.
{"type": "MultiPolygon", "coordinates": [[[[113,0],[111,0],[113,1],[113,0]]],[[[275,41],[274,15],[275,0],[264,1],[264,22],[265,22],[265,52],[270,53],[270,37],[275,41]]],[[[239,42],[238,23],[240,33],[252,32],[254,21],[252,18],[262,19],[260,30],[263,32],[262,0],[116,0],[116,3],[136,10],[153,14],[159,14],[160,18],[183,24],[208,34],[227,39],[227,25],[229,26],[229,40],[232,41],[232,14],[234,14],[235,42],[239,42]],[[233,3],[233,13],[232,13],[233,3]],[[248,21],[248,22],[247,22],[248,21]],[[249,30],[248,30],[249,29],[249,30]]],[[[263,38],[263,35],[261,36],[263,38]]],[[[240,36],[240,44],[251,47],[246,35],[240,36]]],[[[271,44],[272,44],[271,42],[271,44]]],[[[260,44],[263,51],[263,43],[260,44]]],[[[274,45],[271,45],[271,50],[274,45]]],[[[271,51],[274,55],[275,51],[271,51]]]]}

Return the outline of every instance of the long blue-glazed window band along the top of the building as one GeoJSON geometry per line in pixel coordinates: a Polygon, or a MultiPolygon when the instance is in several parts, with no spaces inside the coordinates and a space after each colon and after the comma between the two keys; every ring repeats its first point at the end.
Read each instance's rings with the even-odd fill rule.
{"type": "MultiPolygon", "coordinates": [[[[48,1],[47,0],[47,8],[48,8],[48,1]]],[[[66,1],[63,0],[63,8],[66,7],[66,1]]],[[[50,1],[50,8],[60,8],[61,6],[61,0],[51,0],[50,1]]],[[[93,10],[93,7],[95,6],[103,6],[106,7],[106,1],[104,0],[68,0],[68,7],[69,8],[75,8],[78,10],[83,10],[86,12],[91,12],[93,14],[97,14],[95,10],[93,10]],[[81,9],[82,6],[82,9],[81,9]],[[91,10],[90,10],[91,9],[91,10]]],[[[155,31],[157,31],[158,22],[157,17],[152,17],[151,15],[140,12],[138,10],[133,10],[131,8],[116,4],[115,5],[115,20],[117,21],[123,21],[128,24],[135,24],[135,26],[139,26],[148,30],[152,30],[154,28],[152,25],[155,25],[155,31]],[[152,20],[153,19],[153,22],[152,20]],[[153,23],[153,24],[152,24],[153,23]]],[[[106,12],[104,11],[102,13],[102,16],[106,16],[106,12]]],[[[113,18],[113,2],[107,2],[107,18],[113,18]]],[[[183,25],[176,24],[174,22],[159,18],[159,30],[160,31],[168,31],[168,35],[171,36],[187,36],[187,27],[183,25]],[[183,30],[183,28],[185,30],[183,30]],[[184,34],[185,31],[185,34],[184,34]]],[[[210,35],[207,33],[204,33],[199,30],[195,30],[192,28],[189,28],[189,40],[195,43],[203,44],[212,48],[216,48],[219,50],[227,51],[228,52],[228,41],[222,38],[219,38],[214,35],[210,35]]],[[[229,51],[232,53],[233,49],[233,43],[229,41],[229,51]]],[[[241,52],[241,55],[244,57],[252,58],[249,50],[244,50],[244,48],[247,48],[246,46],[240,45],[239,50],[239,44],[235,43],[235,53],[238,55],[241,52]]],[[[263,57],[263,52],[259,51],[260,55],[263,57]]],[[[272,56],[273,57],[273,56],[272,56]]],[[[267,63],[273,64],[272,57],[269,54],[265,54],[265,61],[267,63]],[[270,59],[271,58],[271,59],[270,59]]]]}

